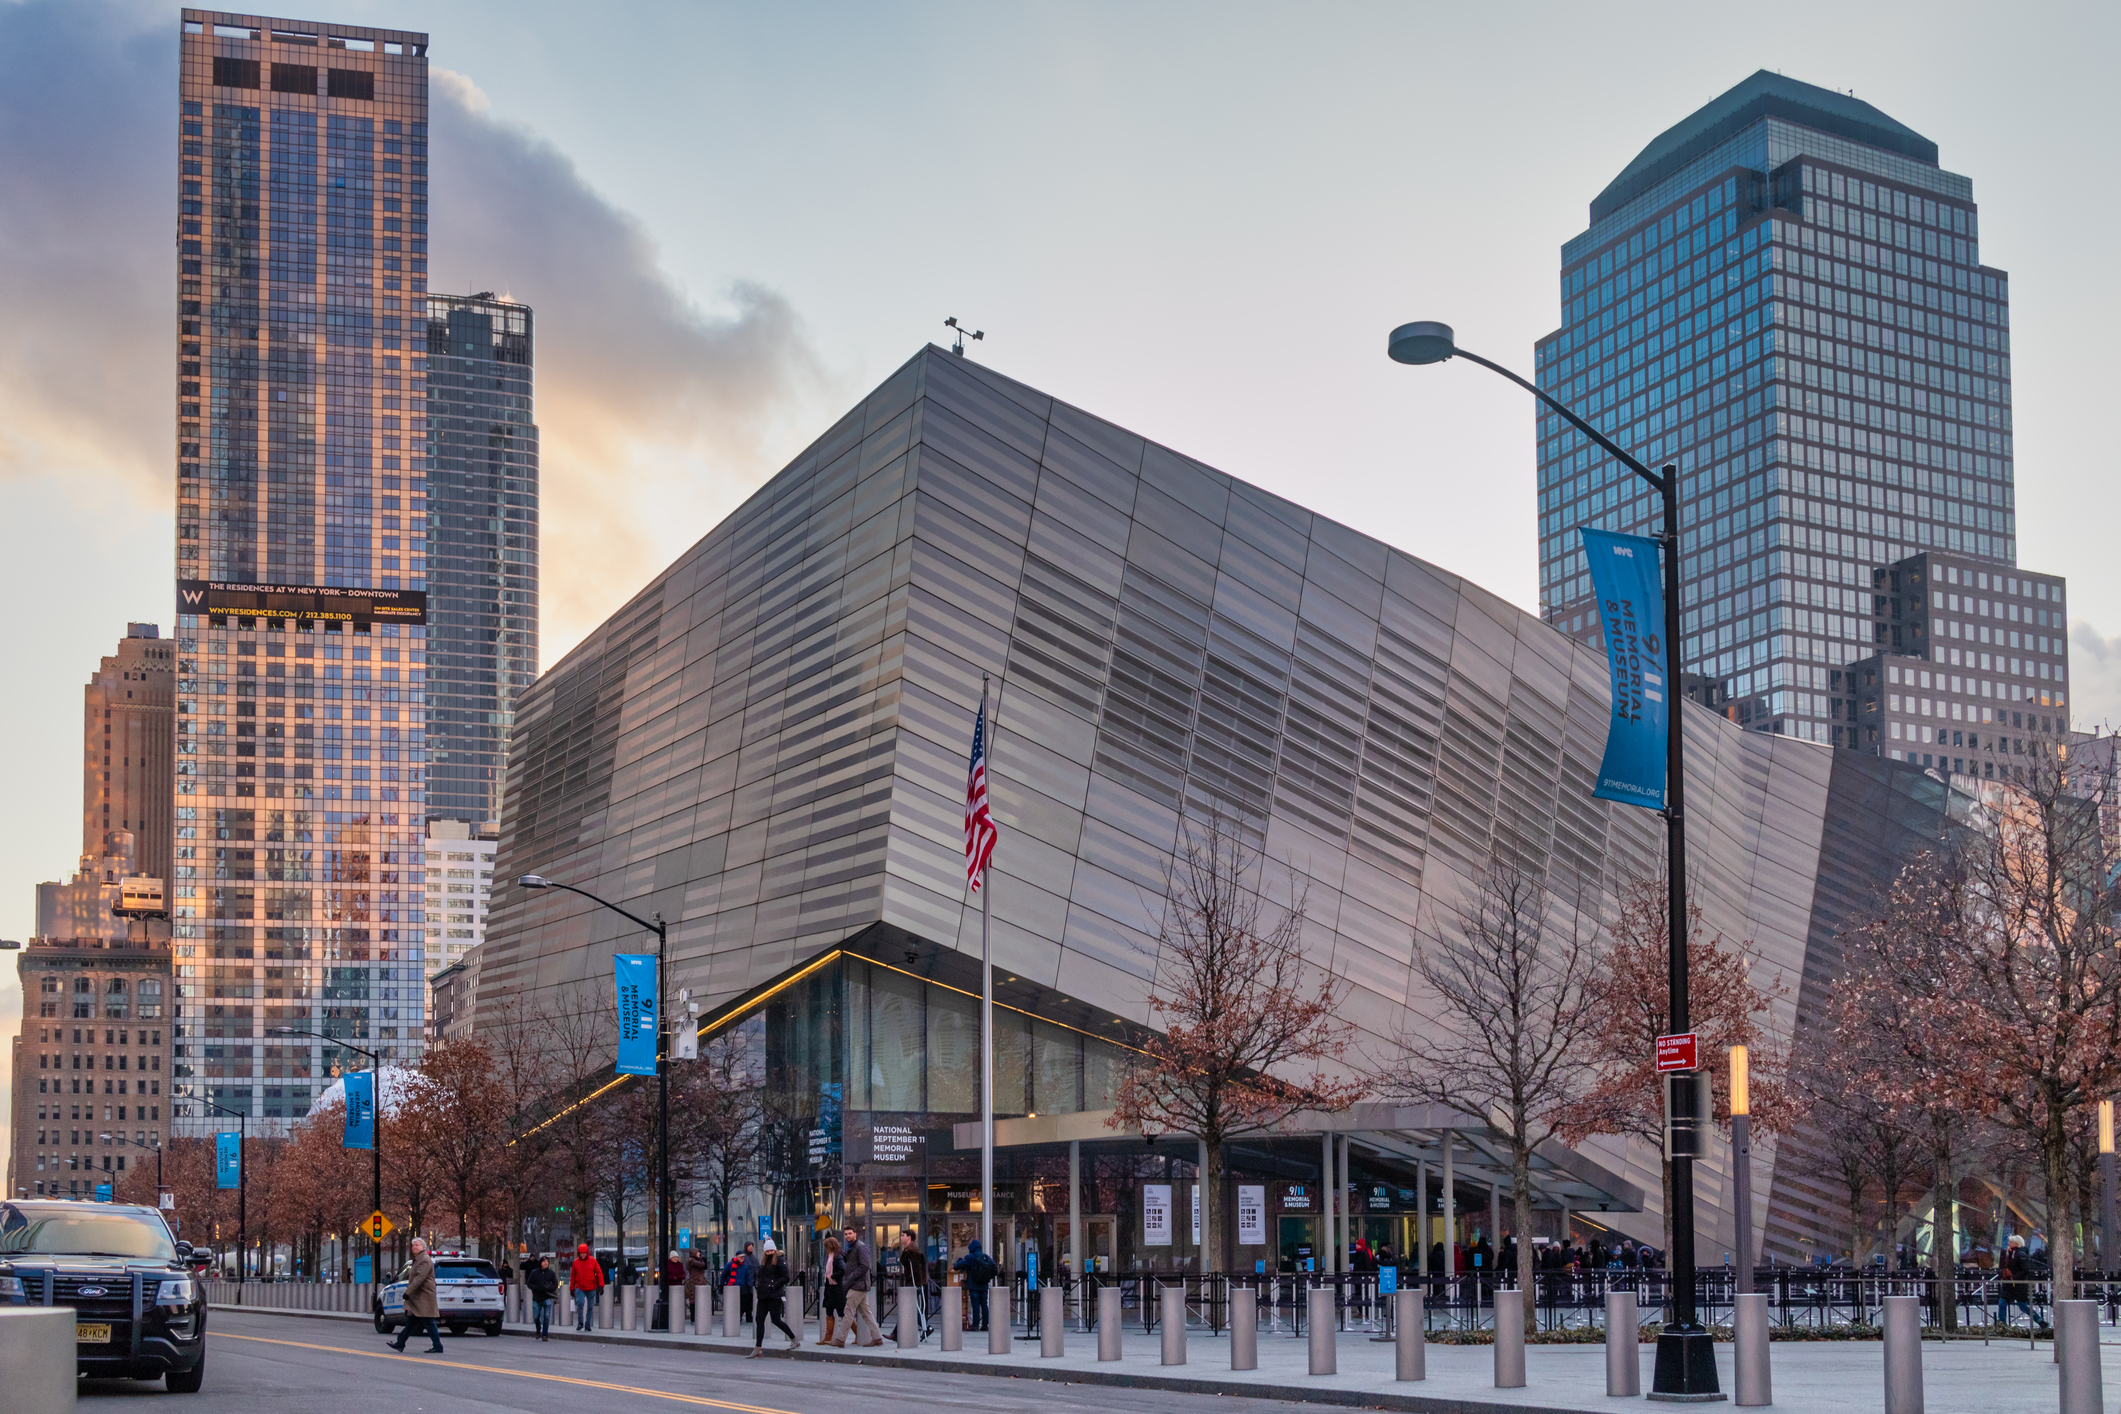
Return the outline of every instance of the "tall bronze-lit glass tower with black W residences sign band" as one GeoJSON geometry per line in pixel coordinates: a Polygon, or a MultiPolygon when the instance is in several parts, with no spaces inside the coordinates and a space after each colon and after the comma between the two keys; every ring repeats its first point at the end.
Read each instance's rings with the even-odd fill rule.
{"type": "Polygon", "coordinates": [[[182,11],[176,240],[172,1073],[271,1132],[420,1056],[426,36],[182,11]]]}

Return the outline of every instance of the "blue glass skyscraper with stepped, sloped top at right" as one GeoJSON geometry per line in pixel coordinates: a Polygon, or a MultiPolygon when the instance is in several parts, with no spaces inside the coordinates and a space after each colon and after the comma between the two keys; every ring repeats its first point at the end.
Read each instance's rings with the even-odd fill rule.
{"type": "MultiPolygon", "coordinates": [[[[1934,142],[1769,72],[1650,142],[1561,248],[1540,386],[1678,464],[1684,664],[1741,723],[1856,746],[1886,566],[2017,564],[2009,297],[1934,142]]],[[[1654,534],[1659,507],[1559,418],[1538,437],[1540,613],[1595,642],[1578,528],[1654,534]]]]}

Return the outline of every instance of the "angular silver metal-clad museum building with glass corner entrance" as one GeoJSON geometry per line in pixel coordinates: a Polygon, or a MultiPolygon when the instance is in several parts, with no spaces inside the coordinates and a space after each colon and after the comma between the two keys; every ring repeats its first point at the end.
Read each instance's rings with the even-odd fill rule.
{"type": "MultiPolygon", "coordinates": [[[[1493,859],[1599,914],[1627,880],[1661,878],[1654,814],[1591,797],[1610,717],[1597,651],[929,348],[545,672],[518,717],[496,878],[662,914],[670,994],[694,990],[708,1039],[740,1037],[774,1113],[808,1134],[770,1191],[736,1200],[742,1230],[766,1215],[806,1242],[834,1215],[952,1255],[978,1234],[978,1141],[957,1126],[980,1109],[963,801],[982,674],[1007,1263],[1067,1249],[1071,1143],[1088,1261],[1190,1257],[1184,1217],[1156,1215],[1173,1183],[1188,1210],[1196,1145],[1105,1128],[1184,820],[1239,823],[1270,859],[1266,886],[1307,897],[1304,948],[1347,977],[1343,1015],[1370,1054],[1423,1020],[1415,939],[1451,926],[1493,859]]],[[[1697,706],[1686,750],[1703,926],[1807,988],[1837,924],[1956,799],[1920,767],[1697,706]]],[[[613,952],[643,945],[573,895],[494,895],[481,1024],[598,1005],[613,952]]],[[[1459,1236],[1493,1232],[1508,1164],[1485,1124],[1368,1104],[1336,1128],[1372,1242],[1440,1236],[1447,1143],[1459,1236]]],[[[1230,1202],[1256,1189],[1260,1210],[1226,1227],[1241,1268],[1328,1261],[1321,1160],[1315,1128],[1234,1145],[1230,1202]]],[[[1833,1240],[1835,1196],[1767,1145],[1756,1164],[1767,1251],[1833,1240]]],[[[1712,1249],[1733,1247],[1726,1168],[1722,1151],[1703,1162],[1712,1249]]],[[[1542,1145],[1542,1221],[1565,1208],[1661,1242],[1657,1174],[1648,1147],[1542,1145]]]]}

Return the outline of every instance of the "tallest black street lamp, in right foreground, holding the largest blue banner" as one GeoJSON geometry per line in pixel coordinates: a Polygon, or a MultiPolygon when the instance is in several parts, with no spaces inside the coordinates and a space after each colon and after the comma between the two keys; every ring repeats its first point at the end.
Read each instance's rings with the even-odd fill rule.
{"type": "MultiPolygon", "coordinates": [[[[1665,502],[1665,530],[1657,536],[1665,560],[1665,939],[1669,943],[1671,1022],[1673,1035],[1688,1028],[1686,1015],[1686,791],[1680,738],[1680,704],[1669,700],[1680,685],[1680,469],[1654,473],[1623,452],[1595,426],[1578,418],[1565,403],[1548,396],[1538,384],[1525,382],[1500,363],[1489,363],[1457,346],[1451,324],[1415,322],[1391,331],[1387,352],[1393,363],[1444,363],[1463,358],[1489,373],[1500,373],[1570,426],[1603,447],[1616,462],[1657,488],[1665,502]]],[[[1671,1325],[1657,1338],[1659,1395],[1714,1395],[1716,1344],[1695,1314],[1695,1162],[1673,1157],[1671,1164],[1671,1325]]]]}

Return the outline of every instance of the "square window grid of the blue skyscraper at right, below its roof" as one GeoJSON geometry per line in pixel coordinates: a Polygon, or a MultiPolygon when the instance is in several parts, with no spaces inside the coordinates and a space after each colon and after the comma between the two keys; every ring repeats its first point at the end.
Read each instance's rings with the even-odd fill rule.
{"type": "MultiPolygon", "coordinates": [[[[1813,617],[1833,613],[1830,638],[1824,636],[1828,625],[1820,625],[1820,649],[1813,649],[1820,657],[1856,657],[1852,644],[1866,647],[1864,566],[1850,553],[1813,553],[1822,545],[1809,530],[1833,526],[1837,536],[1852,536],[1858,505],[1871,532],[1866,538],[1875,543],[1871,562],[1947,538],[2004,564],[2015,560],[2009,288],[1998,271],[1975,267],[1970,199],[1939,204],[1934,193],[1924,197],[1903,189],[1900,212],[1913,212],[1915,223],[1909,227],[1900,216],[1898,231],[1881,233],[1875,227],[1879,210],[1890,216],[1894,206],[1888,184],[1873,180],[1864,193],[1858,174],[1805,159],[1790,182],[1809,189],[1805,195],[1792,191],[1796,199],[1790,204],[1799,210],[1741,210],[1741,176],[1731,174],[1712,191],[1693,193],[1688,201],[1572,261],[1563,269],[1563,301],[1574,318],[1536,352],[1542,386],[1578,407],[1589,401],[1601,413],[1603,430],[1633,432],[1627,441],[1648,443],[1652,456],[1676,458],[1682,473],[1693,473],[1682,483],[1693,562],[1686,566],[1688,661],[1722,678],[1737,676],[1741,657],[1752,659],[1748,670],[1765,659],[1773,621],[1782,617],[1788,628],[1799,606],[1807,628],[1813,617]],[[1930,201],[1928,220],[1924,199],[1930,201]],[[1839,237],[1830,231],[1837,210],[1839,237]],[[1847,233],[1852,225],[1860,231],[1864,210],[1873,214],[1871,242],[1847,233]],[[1854,223],[1850,212],[1858,214],[1854,223]],[[1911,252],[1917,242],[1920,257],[1911,252]],[[1930,259],[1932,250],[1945,259],[1930,259]],[[1724,273],[1733,263],[1741,269],[1737,278],[1724,273]],[[1822,316],[1828,301],[1871,316],[1858,318],[1869,329],[1850,331],[1843,314],[1822,316]],[[1822,348],[1820,333],[1796,333],[1803,322],[1818,331],[1822,318],[1826,329],[1850,333],[1852,341],[1828,337],[1822,348]],[[1837,318],[1841,324],[1833,324],[1837,318]],[[1932,329],[1949,339],[1932,337],[1932,329]],[[1856,341],[1864,335],[1892,341],[1890,369],[1883,350],[1856,341]],[[1911,356],[1900,358],[1900,350],[1911,356]],[[1828,363],[1835,354],[1839,358],[1828,363]],[[1879,377],[1871,377],[1873,371],[1879,377]],[[1881,382],[1888,371],[1894,382],[1881,382]],[[1839,399],[1826,407],[1856,413],[1843,418],[1830,447],[1822,445],[1822,437],[1807,437],[1813,428],[1837,428],[1813,416],[1826,394],[1807,390],[1822,382],[1839,399]],[[1705,394],[1695,394],[1701,386],[1705,394]],[[1951,392],[1945,392],[1947,386],[1951,392]],[[1873,399],[1854,405],[1841,390],[1873,399]],[[1892,394],[1900,396],[1890,407],[1871,405],[1892,394]],[[1968,394],[1977,394],[1979,403],[1968,394]],[[1920,409],[1920,430],[1928,437],[1911,437],[1917,430],[1913,409],[1920,409]],[[1883,411],[1894,413],[1890,447],[1883,437],[1869,435],[1871,424],[1886,422],[1883,411]],[[1966,426],[1960,426],[1960,416],[1970,416],[1966,426]],[[1866,432],[1860,460],[1839,445],[1854,441],[1850,432],[1858,418],[1866,432]],[[1623,428],[1623,422],[1629,426],[1623,428]],[[1680,422],[1684,428],[1673,426],[1680,422]],[[1739,437],[1733,437],[1735,426],[1743,428],[1739,437]],[[1888,449],[1894,460],[1883,456],[1888,449]],[[1873,454],[1879,454],[1875,466],[1873,454]],[[1803,464],[1796,464],[1799,458],[1803,464]],[[1843,471],[1856,475],[1843,477],[1843,471]],[[1769,526],[1799,530],[1803,547],[1794,545],[1794,536],[1775,536],[1782,543],[1771,547],[1769,534],[1763,534],[1769,526]],[[1763,555],[1769,549],[1780,553],[1763,555]],[[1737,585],[1731,583],[1731,564],[1739,566],[1737,585]],[[1782,613],[1771,615],[1769,608],[1782,613]]],[[[1616,481],[1618,469],[1601,464],[1603,458],[1559,418],[1542,416],[1538,430],[1542,611],[1567,632],[1595,636],[1574,528],[1591,522],[1648,532],[1654,530],[1657,505],[1616,481]]],[[[1803,661],[1782,666],[1792,670],[1792,681],[1818,681],[1820,687],[1833,670],[1803,661]]],[[[1767,674],[1739,676],[1739,687],[1765,685],[1767,674]]],[[[1824,740],[1816,727],[1805,733],[1824,740]]]]}

